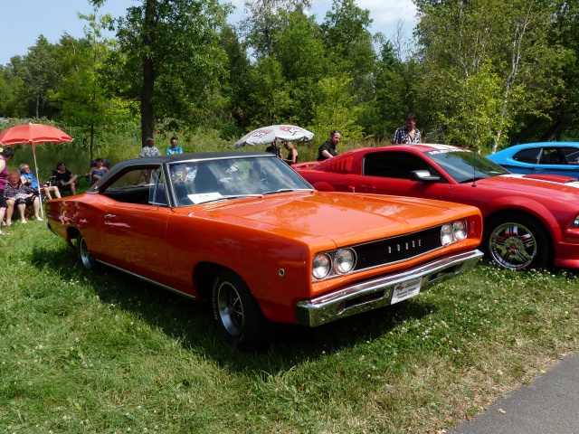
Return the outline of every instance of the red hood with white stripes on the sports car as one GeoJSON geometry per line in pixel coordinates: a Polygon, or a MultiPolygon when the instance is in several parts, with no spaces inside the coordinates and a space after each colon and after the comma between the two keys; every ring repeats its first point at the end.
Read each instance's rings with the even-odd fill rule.
{"type": "MultiPolygon", "coordinates": [[[[501,192],[525,193],[537,196],[553,197],[560,195],[562,200],[579,203],[579,182],[563,183],[561,176],[535,176],[535,175],[500,175],[486,179],[480,179],[476,184],[501,192]]],[[[567,178],[569,179],[569,178],[567,178]]]]}

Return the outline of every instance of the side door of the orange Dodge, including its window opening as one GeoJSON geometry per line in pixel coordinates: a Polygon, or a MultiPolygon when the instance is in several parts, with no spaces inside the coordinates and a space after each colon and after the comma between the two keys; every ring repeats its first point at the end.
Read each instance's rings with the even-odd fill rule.
{"type": "Polygon", "coordinates": [[[171,209],[160,167],[128,171],[102,193],[115,200],[103,216],[110,265],[162,282],[170,275],[166,228],[171,209]]]}

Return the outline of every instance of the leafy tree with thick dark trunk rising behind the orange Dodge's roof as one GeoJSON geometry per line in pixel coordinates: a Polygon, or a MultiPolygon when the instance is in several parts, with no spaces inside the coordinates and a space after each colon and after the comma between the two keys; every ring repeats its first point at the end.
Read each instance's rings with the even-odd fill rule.
{"type": "Polygon", "coordinates": [[[207,90],[218,84],[225,60],[219,31],[228,11],[216,0],[143,0],[118,19],[120,51],[128,73],[141,83],[143,146],[153,136],[156,107],[158,116],[185,118],[191,105],[202,105],[207,90]]]}

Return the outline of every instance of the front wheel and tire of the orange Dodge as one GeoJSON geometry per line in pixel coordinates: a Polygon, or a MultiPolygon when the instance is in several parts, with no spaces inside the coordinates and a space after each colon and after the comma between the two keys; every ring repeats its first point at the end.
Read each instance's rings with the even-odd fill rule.
{"type": "Polygon", "coordinates": [[[271,344],[273,325],[235,273],[228,269],[217,272],[211,302],[217,327],[228,342],[249,350],[263,350],[271,344]]]}

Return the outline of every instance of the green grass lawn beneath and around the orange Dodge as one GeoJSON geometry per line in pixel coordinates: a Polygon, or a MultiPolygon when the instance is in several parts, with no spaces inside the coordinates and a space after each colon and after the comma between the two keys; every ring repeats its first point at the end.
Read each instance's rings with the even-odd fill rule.
{"type": "Polygon", "coordinates": [[[579,349],[579,283],[481,265],[394,307],[264,354],[207,307],[111,269],[86,273],[43,222],[0,237],[0,430],[434,432],[579,349]]]}

